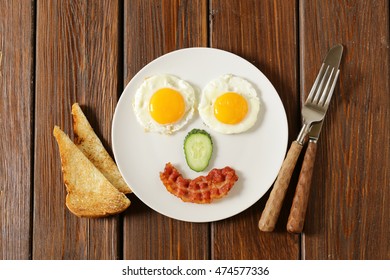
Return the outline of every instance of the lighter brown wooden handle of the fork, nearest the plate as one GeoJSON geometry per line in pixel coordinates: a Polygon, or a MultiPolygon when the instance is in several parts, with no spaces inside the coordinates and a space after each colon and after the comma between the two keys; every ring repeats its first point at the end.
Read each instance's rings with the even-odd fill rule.
{"type": "Polygon", "coordinates": [[[283,161],[282,167],[280,168],[278,177],[263,213],[261,214],[261,218],[259,220],[259,229],[261,231],[269,232],[274,230],[295,164],[297,163],[301,151],[302,145],[298,144],[297,141],[292,142],[287,156],[283,161]]]}

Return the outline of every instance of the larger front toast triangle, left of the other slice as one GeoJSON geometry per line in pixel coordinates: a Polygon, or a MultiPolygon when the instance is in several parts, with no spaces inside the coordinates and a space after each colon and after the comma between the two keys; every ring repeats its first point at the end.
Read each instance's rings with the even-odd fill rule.
{"type": "Polygon", "coordinates": [[[88,160],[70,138],[55,126],[53,135],[61,156],[66,206],[79,217],[99,218],[124,211],[130,200],[88,160]]]}

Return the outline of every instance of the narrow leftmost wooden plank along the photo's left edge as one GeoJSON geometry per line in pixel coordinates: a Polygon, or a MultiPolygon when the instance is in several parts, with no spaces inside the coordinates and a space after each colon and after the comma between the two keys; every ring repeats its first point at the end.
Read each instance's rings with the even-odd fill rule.
{"type": "Polygon", "coordinates": [[[1,0],[0,7],[0,259],[29,259],[34,5],[1,0]]]}

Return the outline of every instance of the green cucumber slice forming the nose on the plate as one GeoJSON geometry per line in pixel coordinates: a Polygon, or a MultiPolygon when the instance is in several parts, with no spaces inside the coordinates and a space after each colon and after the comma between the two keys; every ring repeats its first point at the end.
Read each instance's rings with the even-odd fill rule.
{"type": "Polygon", "coordinates": [[[209,165],[213,153],[213,141],[210,134],[203,129],[194,128],[184,139],[184,154],[188,166],[200,172],[209,165]]]}

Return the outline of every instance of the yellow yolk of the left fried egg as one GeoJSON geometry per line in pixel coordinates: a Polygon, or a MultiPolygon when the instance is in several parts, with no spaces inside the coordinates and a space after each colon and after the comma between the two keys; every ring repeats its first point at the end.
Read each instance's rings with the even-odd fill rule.
{"type": "Polygon", "coordinates": [[[180,120],[185,111],[185,102],[180,92],[171,88],[156,91],[149,102],[149,112],[159,124],[170,124],[180,120]]]}

